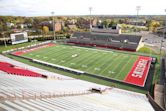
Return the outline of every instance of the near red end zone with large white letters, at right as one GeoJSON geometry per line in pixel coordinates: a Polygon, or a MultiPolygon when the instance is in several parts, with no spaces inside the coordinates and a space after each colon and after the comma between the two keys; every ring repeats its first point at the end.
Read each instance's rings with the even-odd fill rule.
{"type": "Polygon", "coordinates": [[[139,56],[124,81],[130,84],[144,87],[151,60],[151,57],[139,56]]]}

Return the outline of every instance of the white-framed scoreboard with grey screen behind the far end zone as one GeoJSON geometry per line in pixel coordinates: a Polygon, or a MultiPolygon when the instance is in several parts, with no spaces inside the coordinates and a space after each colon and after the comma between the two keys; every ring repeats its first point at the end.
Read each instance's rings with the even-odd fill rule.
{"type": "Polygon", "coordinates": [[[27,32],[13,33],[10,34],[12,44],[19,44],[28,42],[27,32]]]}

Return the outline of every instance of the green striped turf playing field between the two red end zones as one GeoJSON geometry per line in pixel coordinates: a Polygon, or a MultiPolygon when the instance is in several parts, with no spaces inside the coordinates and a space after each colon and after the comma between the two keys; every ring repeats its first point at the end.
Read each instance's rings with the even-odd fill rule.
{"type": "Polygon", "coordinates": [[[138,55],[68,45],[38,49],[22,56],[117,80],[124,80],[138,57],[138,55]]]}

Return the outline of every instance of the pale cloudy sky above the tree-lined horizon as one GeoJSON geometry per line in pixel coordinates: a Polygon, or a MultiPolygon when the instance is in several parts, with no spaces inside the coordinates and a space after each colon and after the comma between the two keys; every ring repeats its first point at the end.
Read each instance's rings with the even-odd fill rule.
{"type": "Polygon", "coordinates": [[[166,15],[166,0],[0,0],[0,15],[166,15]]]}

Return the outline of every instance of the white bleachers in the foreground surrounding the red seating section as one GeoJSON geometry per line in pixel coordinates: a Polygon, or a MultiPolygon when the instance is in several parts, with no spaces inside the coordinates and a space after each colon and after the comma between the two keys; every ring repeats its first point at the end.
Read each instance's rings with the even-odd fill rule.
{"type": "MultiPolygon", "coordinates": [[[[14,66],[30,67],[38,73],[41,71],[2,55],[0,60],[10,61],[14,66]]],[[[68,79],[43,79],[3,71],[0,74],[0,111],[154,111],[146,95],[141,93],[69,79],[55,73],[55,76],[68,79]],[[101,94],[91,92],[92,88],[108,90],[101,94]]]]}

